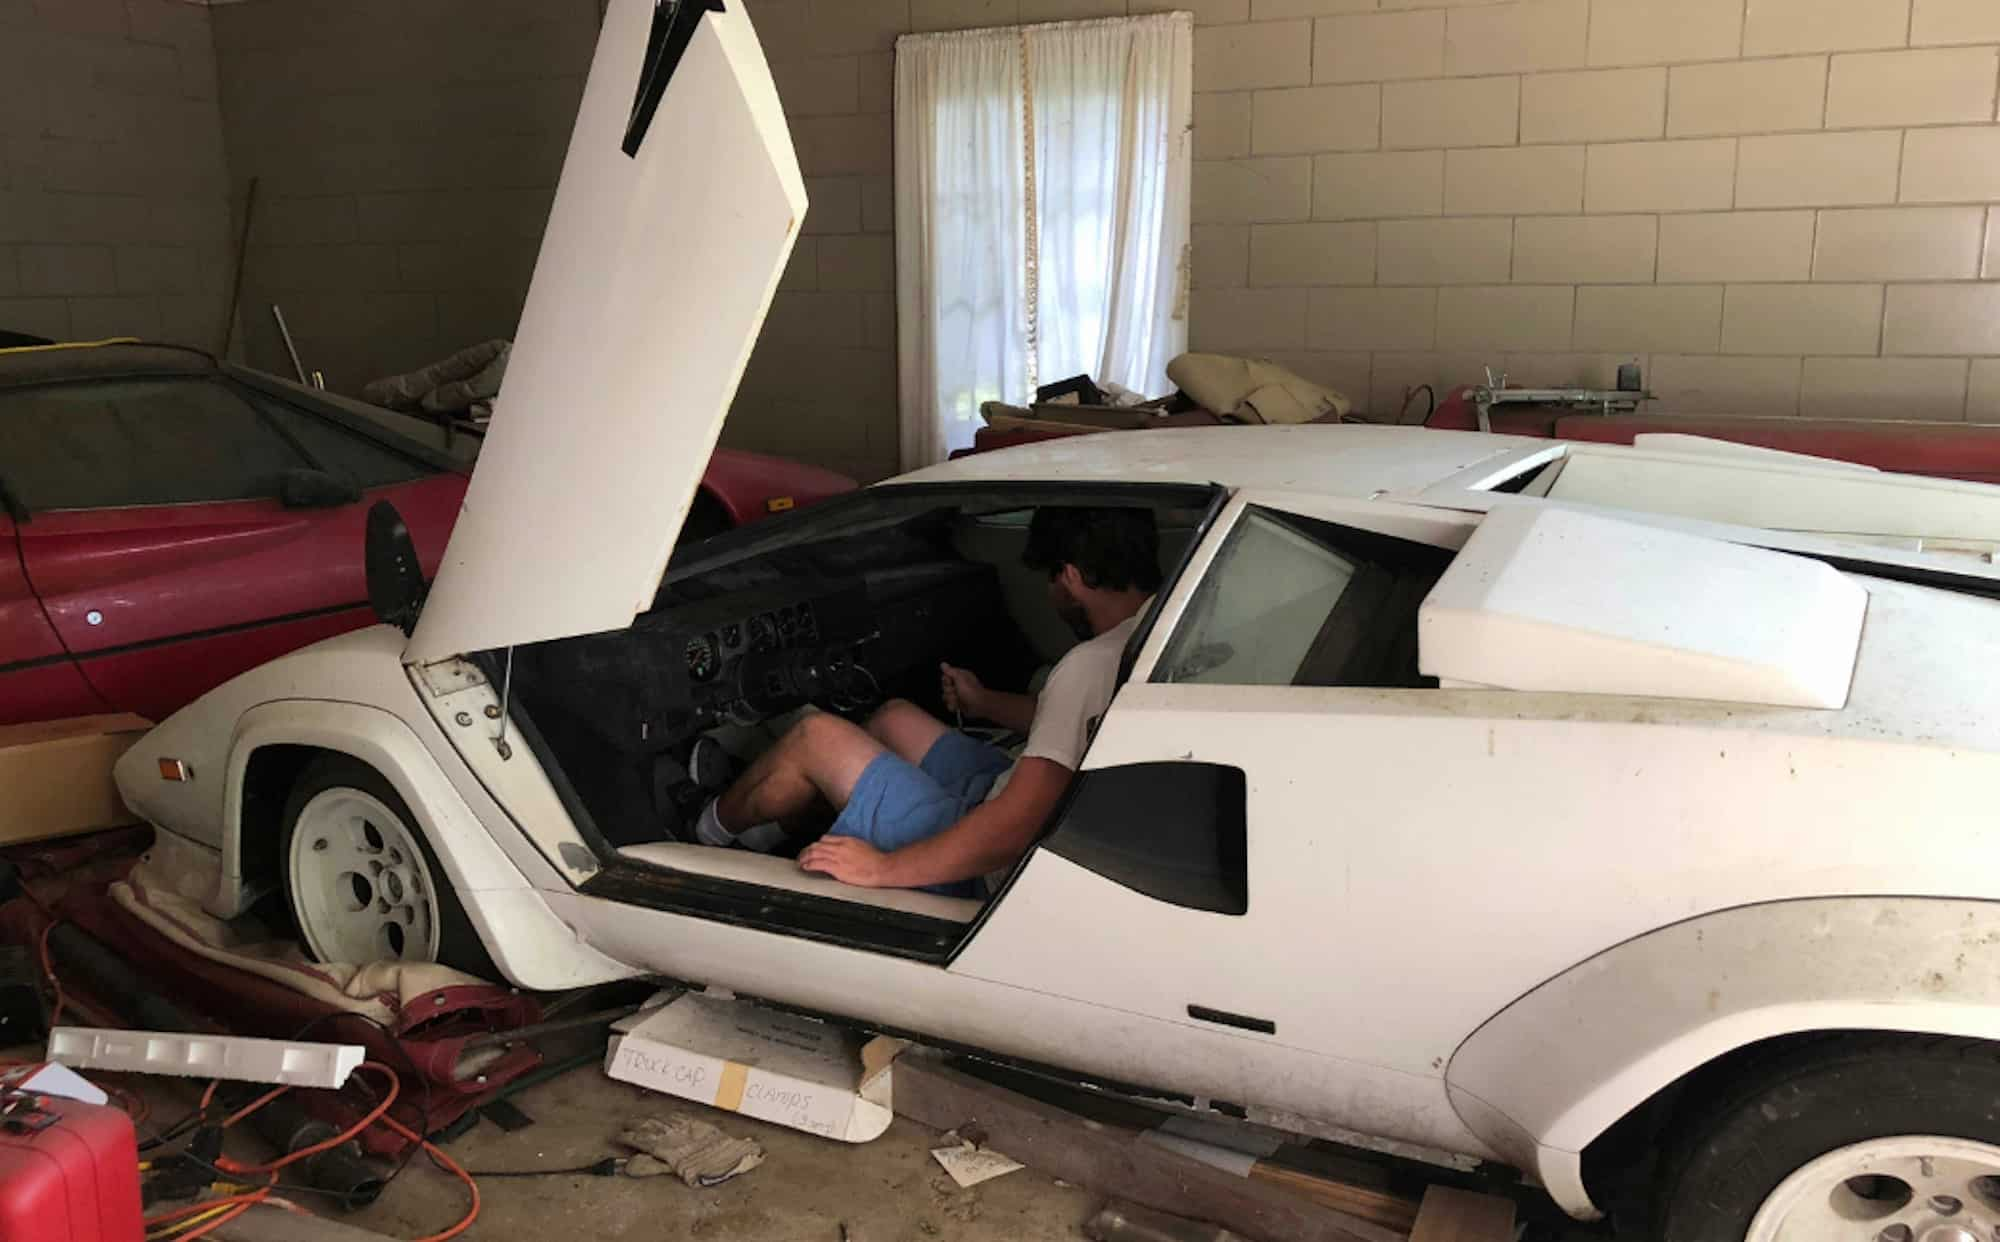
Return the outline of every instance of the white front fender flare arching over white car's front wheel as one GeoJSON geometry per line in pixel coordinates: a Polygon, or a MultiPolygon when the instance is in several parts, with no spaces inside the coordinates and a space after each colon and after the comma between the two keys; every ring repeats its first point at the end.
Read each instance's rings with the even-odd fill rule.
{"type": "Polygon", "coordinates": [[[494,966],[522,988],[556,990],[638,974],[584,944],[494,842],[438,760],[392,712],[352,702],[278,700],[242,714],[230,740],[222,800],[222,880],[214,904],[242,896],[244,772],[262,746],[316,746],[348,754],[388,780],[436,850],[494,966]]]}

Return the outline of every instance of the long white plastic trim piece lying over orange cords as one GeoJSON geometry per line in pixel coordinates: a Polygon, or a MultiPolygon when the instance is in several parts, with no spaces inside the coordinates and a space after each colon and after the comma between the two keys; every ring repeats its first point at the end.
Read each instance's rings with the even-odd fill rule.
{"type": "Polygon", "coordinates": [[[58,1026],[48,1032],[48,1060],[76,1070],[120,1070],[126,1074],[340,1086],[362,1064],[364,1056],[366,1050],[360,1044],[314,1044],[308,1040],[252,1040],[92,1026],[58,1026]]]}

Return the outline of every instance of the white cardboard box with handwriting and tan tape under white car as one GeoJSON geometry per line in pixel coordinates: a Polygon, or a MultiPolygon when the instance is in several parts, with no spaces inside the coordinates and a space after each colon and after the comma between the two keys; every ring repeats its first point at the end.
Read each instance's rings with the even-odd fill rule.
{"type": "MultiPolygon", "coordinates": [[[[878,1138],[902,1040],[688,992],[618,1024],[604,1072],[842,1142],[878,1138]]],[[[614,1028],[616,1030],[616,1028],[614,1028]]]]}

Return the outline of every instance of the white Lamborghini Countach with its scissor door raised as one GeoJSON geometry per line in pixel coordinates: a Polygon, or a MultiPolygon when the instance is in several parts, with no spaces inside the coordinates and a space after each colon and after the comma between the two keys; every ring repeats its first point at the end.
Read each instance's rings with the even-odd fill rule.
{"type": "Polygon", "coordinates": [[[2000,490],[1700,440],[1132,432],[672,560],[806,196],[736,0],[614,0],[430,584],[118,768],[218,916],[524,988],[668,976],[1298,1132],[1506,1162],[1672,1242],[2000,1230],[2000,490]],[[588,386],[588,400],[578,388],[588,386]],[[690,844],[812,704],[1072,642],[1040,506],[1166,584],[988,896],[690,844]]]}

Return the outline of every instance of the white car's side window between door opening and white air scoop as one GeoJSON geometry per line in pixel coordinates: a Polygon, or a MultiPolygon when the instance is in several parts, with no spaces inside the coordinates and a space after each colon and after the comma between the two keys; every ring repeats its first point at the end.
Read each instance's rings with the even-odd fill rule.
{"type": "Polygon", "coordinates": [[[1252,508],[1180,618],[1154,682],[1422,686],[1416,608],[1450,552],[1252,508]]]}

